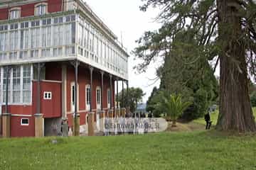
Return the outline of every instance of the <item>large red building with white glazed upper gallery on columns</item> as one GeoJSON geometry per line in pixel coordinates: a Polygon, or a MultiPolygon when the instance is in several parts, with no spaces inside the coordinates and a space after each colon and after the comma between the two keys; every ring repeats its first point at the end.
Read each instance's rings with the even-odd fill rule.
{"type": "Polygon", "coordinates": [[[87,113],[112,111],[128,57],[81,0],[1,1],[0,135],[56,135],[73,115],[85,125],[87,113]]]}

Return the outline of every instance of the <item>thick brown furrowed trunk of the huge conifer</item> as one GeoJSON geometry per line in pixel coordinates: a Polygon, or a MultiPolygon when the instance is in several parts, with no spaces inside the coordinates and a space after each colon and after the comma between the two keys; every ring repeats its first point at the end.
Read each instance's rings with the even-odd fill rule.
{"type": "Polygon", "coordinates": [[[235,0],[217,0],[219,14],[220,115],[216,128],[236,132],[255,132],[250,105],[245,42],[235,0]]]}

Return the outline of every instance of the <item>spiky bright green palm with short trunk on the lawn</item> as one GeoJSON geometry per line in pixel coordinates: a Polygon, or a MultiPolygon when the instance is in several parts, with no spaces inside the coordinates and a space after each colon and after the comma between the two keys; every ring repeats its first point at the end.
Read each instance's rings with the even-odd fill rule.
{"type": "Polygon", "coordinates": [[[172,127],[176,127],[178,116],[190,105],[190,102],[183,102],[180,95],[172,94],[167,96],[161,93],[161,101],[157,103],[156,108],[166,113],[167,117],[172,120],[172,127]]]}

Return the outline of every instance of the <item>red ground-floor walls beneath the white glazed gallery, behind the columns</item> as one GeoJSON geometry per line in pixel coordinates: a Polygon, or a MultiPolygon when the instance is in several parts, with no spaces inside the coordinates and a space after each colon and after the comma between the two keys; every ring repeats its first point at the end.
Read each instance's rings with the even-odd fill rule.
{"type": "MultiPolygon", "coordinates": [[[[41,81],[41,113],[44,118],[61,118],[62,115],[62,91],[61,91],[61,64],[58,63],[46,63],[46,81],[41,81]],[[51,81],[50,81],[51,80],[51,81]],[[43,92],[51,91],[52,100],[47,101],[43,99],[43,92]]],[[[67,68],[67,111],[68,111],[68,123],[72,125],[71,113],[71,83],[75,81],[74,68],[69,65],[67,68]]],[[[93,72],[93,89],[92,89],[92,110],[95,111],[96,106],[96,88],[101,86],[101,74],[98,71],[93,72]]],[[[85,125],[87,111],[85,107],[85,86],[90,84],[90,69],[80,67],[78,72],[78,89],[79,89],[79,113],[80,113],[80,125],[85,125]]],[[[107,89],[110,89],[110,77],[108,74],[104,76],[104,89],[103,89],[103,108],[107,108],[107,89]]],[[[114,107],[114,79],[112,80],[113,101],[114,107]]],[[[9,106],[9,113],[21,115],[11,117],[11,136],[12,137],[31,137],[34,136],[34,117],[36,113],[36,94],[37,94],[37,81],[33,81],[32,89],[32,106],[9,106]],[[31,115],[29,118],[28,126],[21,126],[22,115],[31,115]]],[[[5,113],[5,107],[2,107],[2,113],[5,113]]],[[[96,114],[95,114],[96,120],[96,114]]]]}

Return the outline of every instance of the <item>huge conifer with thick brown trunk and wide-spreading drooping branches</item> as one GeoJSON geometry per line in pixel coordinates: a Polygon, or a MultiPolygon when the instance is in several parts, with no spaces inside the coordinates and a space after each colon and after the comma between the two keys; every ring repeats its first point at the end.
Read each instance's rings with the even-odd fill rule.
{"type": "Polygon", "coordinates": [[[134,54],[145,71],[156,57],[168,57],[174,38],[183,30],[196,41],[198,59],[220,62],[220,114],[218,130],[255,132],[250,106],[249,74],[255,75],[256,4],[252,0],[142,0],[142,11],[160,7],[158,31],[148,31],[137,42],[134,54]],[[201,54],[202,52],[202,54],[201,54]],[[249,72],[248,72],[249,70],[249,72]]]}

